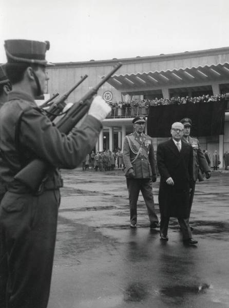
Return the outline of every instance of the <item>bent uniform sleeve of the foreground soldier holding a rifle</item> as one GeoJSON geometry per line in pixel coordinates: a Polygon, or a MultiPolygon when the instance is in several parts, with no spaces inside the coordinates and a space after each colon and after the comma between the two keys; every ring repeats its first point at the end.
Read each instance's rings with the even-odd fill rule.
{"type": "Polygon", "coordinates": [[[101,122],[87,115],[80,128],[67,136],[44,114],[32,108],[23,114],[20,142],[51,165],[71,169],[81,164],[93,149],[101,129],[101,122]]]}

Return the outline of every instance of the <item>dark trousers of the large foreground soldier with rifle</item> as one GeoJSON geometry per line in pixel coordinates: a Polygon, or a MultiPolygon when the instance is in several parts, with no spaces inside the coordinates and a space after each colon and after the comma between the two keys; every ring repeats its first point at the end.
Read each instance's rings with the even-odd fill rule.
{"type": "Polygon", "coordinates": [[[46,308],[60,191],[8,191],[0,209],[0,307],[46,308]]]}

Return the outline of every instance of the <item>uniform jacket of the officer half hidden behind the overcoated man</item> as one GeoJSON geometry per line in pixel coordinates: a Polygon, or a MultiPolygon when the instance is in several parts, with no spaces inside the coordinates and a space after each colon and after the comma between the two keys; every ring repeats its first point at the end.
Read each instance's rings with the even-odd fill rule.
{"type": "MultiPolygon", "coordinates": [[[[187,142],[184,137],[182,138],[182,140],[184,142],[187,142]]],[[[193,178],[194,181],[197,181],[199,169],[206,173],[210,171],[209,165],[206,161],[204,153],[200,148],[199,140],[197,138],[188,136],[187,143],[190,144],[193,148],[193,178]]]]}

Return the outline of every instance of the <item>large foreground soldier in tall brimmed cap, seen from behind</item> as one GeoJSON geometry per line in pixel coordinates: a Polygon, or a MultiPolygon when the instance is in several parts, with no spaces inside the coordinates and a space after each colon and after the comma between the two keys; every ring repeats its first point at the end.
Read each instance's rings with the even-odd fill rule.
{"type": "Polygon", "coordinates": [[[5,41],[13,90],[0,110],[0,179],[8,185],[0,208],[1,308],[47,307],[62,186],[59,168],[82,163],[111,110],[96,97],[81,126],[69,136],[61,133],[34,101],[44,93],[48,49],[48,42],[5,41]],[[34,158],[49,166],[35,192],[14,179],[34,158]]]}

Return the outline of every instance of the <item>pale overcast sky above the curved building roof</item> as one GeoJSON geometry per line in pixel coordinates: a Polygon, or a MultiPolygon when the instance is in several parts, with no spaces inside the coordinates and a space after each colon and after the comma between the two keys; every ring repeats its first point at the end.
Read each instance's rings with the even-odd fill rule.
{"type": "Polygon", "coordinates": [[[123,59],[229,46],[228,0],[1,0],[4,41],[50,41],[47,60],[123,59]]]}

